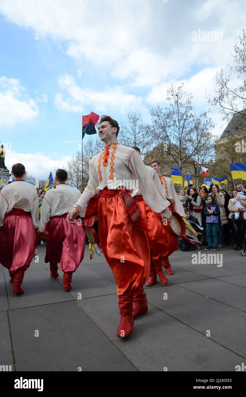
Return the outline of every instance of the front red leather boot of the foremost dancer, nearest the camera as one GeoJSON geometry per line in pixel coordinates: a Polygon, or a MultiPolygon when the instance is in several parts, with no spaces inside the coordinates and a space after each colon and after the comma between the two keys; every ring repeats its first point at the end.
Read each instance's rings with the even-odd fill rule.
{"type": "Polygon", "coordinates": [[[133,292],[125,292],[119,296],[119,308],[120,308],[120,325],[117,331],[117,336],[125,337],[132,333],[134,326],[134,319],[132,317],[133,312],[133,292]]]}

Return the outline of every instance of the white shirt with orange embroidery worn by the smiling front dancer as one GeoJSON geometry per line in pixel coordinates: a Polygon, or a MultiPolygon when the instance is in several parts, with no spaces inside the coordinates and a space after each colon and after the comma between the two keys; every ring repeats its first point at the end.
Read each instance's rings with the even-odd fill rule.
{"type": "Polygon", "coordinates": [[[163,195],[163,191],[160,191],[155,185],[136,150],[118,143],[111,143],[108,145],[108,149],[109,156],[105,165],[103,158],[106,146],[103,152],[96,154],[91,159],[88,185],[78,202],[74,204],[74,208],[77,209],[81,217],[85,216],[87,204],[93,195],[105,187],[117,189],[117,187],[123,186],[128,189],[126,181],[136,182],[135,185],[139,186],[143,200],[154,212],[162,212],[168,208],[169,202],[163,195]],[[113,187],[110,187],[110,181],[114,182],[113,187]]]}

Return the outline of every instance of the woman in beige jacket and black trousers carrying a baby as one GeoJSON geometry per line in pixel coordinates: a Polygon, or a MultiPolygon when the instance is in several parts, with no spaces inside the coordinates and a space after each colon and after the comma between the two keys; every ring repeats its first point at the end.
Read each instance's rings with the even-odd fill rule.
{"type": "MultiPolygon", "coordinates": [[[[233,198],[235,198],[237,194],[238,194],[238,191],[236,189],[234,189],[232,191],[233,198]]],[[[242,208],[236,207],[235,204],[231,200],[229,200],[229,203],[228,203],[228,209],[230,211],[228,219],[229,219],[229,222],[231,225],[231,230],[233,233],[233,249],[234,249],[234,251],[238,251],[237,246],[240,245],[242,247],[242,243],[244,240],[245,221],[243,220],[243,218],[240,219],[241,216],[239,216],[238,220],[235,220],[235,212],[242,212],[242,208]]],[[[246,207],[246,201],[241,200],[240,198],[238,201],[240,201],[240,203],[244,207],[246,207]]]]}

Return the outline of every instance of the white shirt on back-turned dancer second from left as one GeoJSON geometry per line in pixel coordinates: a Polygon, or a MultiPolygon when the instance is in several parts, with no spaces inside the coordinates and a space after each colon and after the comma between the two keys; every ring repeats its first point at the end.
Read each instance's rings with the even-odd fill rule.
{"type": "Polygon", "coordinates": [[[60,183],[48,190],[41,206],[39,231],[45,230],[45,226],[51,216],[63,215],[69,212],[80,196],[80,191],[65,183],[60,183]]]}

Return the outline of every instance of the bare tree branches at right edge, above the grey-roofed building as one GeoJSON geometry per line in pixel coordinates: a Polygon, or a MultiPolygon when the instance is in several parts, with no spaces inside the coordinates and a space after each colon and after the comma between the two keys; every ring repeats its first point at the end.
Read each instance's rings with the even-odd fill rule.
{"type": "MultiPolygon", "coordinates": [[[[212,106],[216,106],[223,120],[229,121],[232,115],[237,112],[242,115],[238,123],[245,124],[246,115],[242,112],[246,108],[246,32],[243,30],[242,35],[236,37],[234,45],[234,66],[228,65],[230,72],[226,74],[221,69],[216,76],[215,96],[208,98],[212,106]],[[232,77],[237,77],[238,84],[234,83],[232,87],[232,77]]],[[[240,125],[236,125],[240,128],[240,125]]]]}

